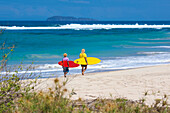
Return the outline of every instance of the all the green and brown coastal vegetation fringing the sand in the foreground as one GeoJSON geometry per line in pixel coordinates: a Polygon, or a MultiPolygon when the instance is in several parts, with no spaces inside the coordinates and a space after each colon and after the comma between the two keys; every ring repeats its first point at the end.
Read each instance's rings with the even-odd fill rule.
{"type": "MultiPolygon", "coordinates": [[[[68,80],[60,83],[58,78],[54,80],[55,89],[36,92],[34,88],[38,85],[39,76],[27,74],[27,71],[33,67],[30,65],[24,69],[20,65],[15,69],[15,74],[9,74],[10,70],[6,67],[6,63],[9,54],[13,52],[13,47],[6,48],[4,43],[0,50],[4,54],[0,72],[7,72],[0,74],[0,113],[170,113],[166,95],[162,99],[156,99],[151,107],[144,104],[145,99],[135,102],[124,98],[71,100],[73,93],[68,94],[65,87],[68,80]],[[18,70],[25,70],[25,73],[19,74],[18,70]]],[[[145,96],[147,94],[146,92],[145,96]]]]}

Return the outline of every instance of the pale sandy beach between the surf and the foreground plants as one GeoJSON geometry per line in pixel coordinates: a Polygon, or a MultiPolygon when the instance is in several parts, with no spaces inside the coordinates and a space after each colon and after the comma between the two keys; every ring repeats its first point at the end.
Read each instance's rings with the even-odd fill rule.
{"type": "MultiPolygon", "coordinates": [[[[70,75],[67,77],[66,88],[74,90],[71,99],[95,98],[127,98],[130,100],[146,99],[151,105],[155,99],[161,99],[165,94],[170,102],[170,64],[142,67],[136,69],[70,75]],[[145,96],[145,93],[147,95],[145,96]]],[[[66,80],[64,77],[60,81],[66,80]]],[[[48,91],[54,88],[54,78],[40,79],[36,89],[48,91]]]]}

